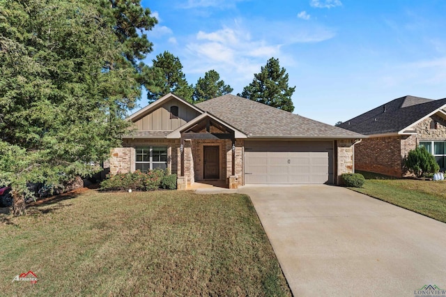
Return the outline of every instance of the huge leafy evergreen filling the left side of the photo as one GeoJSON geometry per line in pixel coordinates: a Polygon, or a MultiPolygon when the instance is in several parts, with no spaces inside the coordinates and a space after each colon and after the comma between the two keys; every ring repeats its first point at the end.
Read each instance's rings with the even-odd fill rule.
{"type": "Polygon", "coordinates": [[[135,6],[0,1],[0,184],[13,188],[14,215],[25,211],[27,182],[92,174],[120,146],[123,116],[141,96],[135,64],[151,50],[132,32],[156,22],[135,6]]]}

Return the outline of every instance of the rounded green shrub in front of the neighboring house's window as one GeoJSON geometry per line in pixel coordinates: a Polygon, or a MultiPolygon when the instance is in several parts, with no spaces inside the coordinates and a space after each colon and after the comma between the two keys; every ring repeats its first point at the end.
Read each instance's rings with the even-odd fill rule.
{"type": "Polygon", "coordinates": [[[424,174],[434,174],[440,170],[435,157],[424,146],[418,146],[409,151],[405,165],[409,172],[412,172],[417,177],[421,177],[424,174]]]}

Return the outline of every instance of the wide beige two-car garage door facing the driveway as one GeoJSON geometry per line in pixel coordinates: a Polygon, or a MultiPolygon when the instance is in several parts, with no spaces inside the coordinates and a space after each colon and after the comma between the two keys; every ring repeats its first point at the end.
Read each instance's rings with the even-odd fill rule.
{"type": "Polygon", "coordinates": [[[333,142],[245,142],[245,183],[333,182],[333,142]]]}

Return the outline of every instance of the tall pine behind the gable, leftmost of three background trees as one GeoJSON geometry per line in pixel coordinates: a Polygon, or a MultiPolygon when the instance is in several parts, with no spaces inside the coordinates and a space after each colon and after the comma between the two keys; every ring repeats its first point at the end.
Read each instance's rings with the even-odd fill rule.
{"type": "Polygon", "coordinates": [[[153,66],[143,69],[142,82],[148,91],[149,102],[167,93],[175,93],[192,103],[193,86],[187,84],[180,59],[170,52],[158,54],[156,59],[153,59],[153,66]]]}

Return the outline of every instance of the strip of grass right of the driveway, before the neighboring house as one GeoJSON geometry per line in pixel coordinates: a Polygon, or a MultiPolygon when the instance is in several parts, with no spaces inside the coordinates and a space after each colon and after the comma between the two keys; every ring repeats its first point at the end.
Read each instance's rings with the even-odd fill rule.
{"type": "Polygon", "coordinates": [[[366,179],[364,188],[351,188],[351,190],[446,222],[446,181],[385,179],[383,176],[376,177],[373,174],[365,176],[369,179],[366,179]]]}

